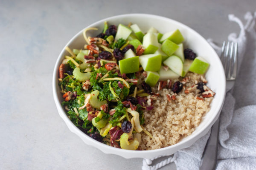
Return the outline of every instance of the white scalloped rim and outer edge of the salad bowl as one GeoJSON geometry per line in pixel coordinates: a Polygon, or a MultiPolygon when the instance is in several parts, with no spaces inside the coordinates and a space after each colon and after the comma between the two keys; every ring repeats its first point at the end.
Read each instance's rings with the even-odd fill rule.
{"type": "MultiPolygon", "coordinates": [[[[178,151],[180,149],[191,146],[199,138],[206,135],[206,133],[212,127],[213,123],[218,119],[218,116],[220,114],[221,108],[222,108],[223,103],[224,103],[224,98],[225,98],[226,80],[225,80],[225,75],[224,75],[224,69],[223,69],[223,67],[221,65],[221,61],[220,61],[218,55],[216,54],[216,52],[214,51],[214,49],[209,45],[209,43],[200,34],[198,34],[192,28],[189,28],[188,26],[186,26],[182,23],[179,23],[176,20],[169,19],[167,17],[161,17],[161,16],[157,16],[157,15],[153,15],[153,14],[122,14],[122,15],[117,15],[117,16],[113,16],[113,17],[108,17],[108,18],[105,18],[103,20],[99,20],[96,23],[93,23],[90,26],[87,26],[86,28],[94,27],[96,25],[99,25],[100,23],[103,24],[104,21],[115,20],[115,19],[117,20],[117,19],[121,19],[121,18],[125,18],[125,17],[141,17],[141,18],[150,17],[150,18],[156,18],[156,19],[159,19],[159,20],[165,20],[166,22],[175,23],[176,25],[179,25],[179,26],[187,29],[189,32],[192,32],[193,34],[196,34],[196,36],[198,36],[199,38],[201,38],[205,41],[205,44],[209,46],[207,48],[211,48],[210,52],[214,53],[213,55],[215,55],[215,57],[216,57],[216,60],[217,60],[216,62],[217,62],[218,67],[220,69],[219,71],[222,72],[221,77],[219,77],[221,94],[220,94],[220,97],[219,97],[220,100],[218,102],[218,107],[215,108],[215,112],[214,112],[215,116],[213,116],[212,119],[208,120],[208,123],[204,127],[202,127],[200,130],[198,130],[197,133],[195,133],[195,134],[192,133],[191,135],[189,135],[190,137],[186,136],[183,140],[181,140],[177,144],[174,144],[174,145],[171,145],[171,146],[168,146],[168,147],[163,147],[163,148],[160,148],[160,149],[155,149],[155,150],[124,150],[124,149],[111,147],[111,146],[108,146],[107,144],[103,144],[101,142],[98,142],[98,141],[90,138],[89,136],[87,136],[78,127],[76,127],[73,124],[73,122],[70,121],[70,119],[68,118],[68,116],[66,114],[66,111],[61,106],[61,101],[58,99],[58,93],[59,93],[58,65],[61,63],[61,60],[63,59],[64,52],[65,52],[64,48],[62,49],[61,53],[58,56],[58,59],[55,63],[55,67],[54,67],[54,71],[53,71],[52,90],[53,90],[53,97],[54,97],[55,105],[58,109],[59,115],[64,120],[64,122],[67,124],[70,131],[72,131],[73,133],[78,135],[86,144],[91,145],[93,147],[96,147],[96,148],[102,150],[102,152],[104,152],[104,153],[116,154],[116,155],[122,156],[124,158],[147,158],[147,159],[151,159],[151,158],[156,157],[156,156],[172,155],[173,153],[175,153],[176,151],[178,151]]],[[[67,45],[65,45],[65,47],[72,44],[72,42],[77,37],[81,36],[83,30],[84,29],[79,31],[79,33],[77,33],[69,42],[67,42],[67,45]]],[[[210,110],[212,110],[212,108],[210,110]]]]}

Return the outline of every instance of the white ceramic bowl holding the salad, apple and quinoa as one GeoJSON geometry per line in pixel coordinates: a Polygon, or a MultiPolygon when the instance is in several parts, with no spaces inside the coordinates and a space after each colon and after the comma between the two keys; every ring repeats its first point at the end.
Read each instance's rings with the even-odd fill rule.
{"type": "MultiPolygon", "coordinates": [[[[55,100],[55,104],[58,109],[58,113],[64,122],[67,124],[69,129],[76,133],[86,144],[89,144],[93,147],[96,147],[104,153],[112,153],[124,158],[153,158],[156,156],[162,155],[172,155],[177,150],[186,148],[195,143],[199,138],[204,136],[213,125],[213,123],[218,119],[219,113],[221,111],[222,105],[224,103],[225,97],[225,75],[224,69],[221,65],[221,61],[218,55],[215,53],[214,49],[208,44],[208,42],[197,32],[185,26],[182,23],[179,23],[175,20],[171,20],[166,17],[160,17],[151,14],[124,14],[118,15],[114,17],[109,17],[104,20],[100,20],[96,23],[91,24],[87,27],[96,27],[99,28],[98,31],[88,31],[87,35],[93,37],[99,34],[103,30],[104,21],[108,21],[109,25],[118,25],[119,23],[128,25],[128,23],[137,23],[142,31],[146,32],[148,28],[154,27],[161,33],[166,33],[175,29],[179,29],[185,38],[184,45],[185,47],[189,47],[193,49],[198,55],[204,57],[209,63],[209,70],[206,73],[206,79],[208,80],[208,86],[216,93],[214,99],[211,103],[211,110],[204,115],[200,125],[195,129],[195,131],[180,140],[177,144],[174,144],[169,147],[164,147],[156,150],[124,150],[115,147],[108,146],[106,144],[100,143],[81,130],[76,127],[68,118],[66,111],[61,106],[61,102],[63,101],[61,97],[60,88],[58,86],[58,66],[61,64],[64,56],[67,55],[67,51],[64,48],[61,51],[61,54],[58,56],[58,59],[55,64],[54,72],[53,72],[53,96],[55,100]]],[[[73,48],[83,48],[85,44],[84,37],[82,35],[82,31],[76,34],[68,43],[71,49],[73,48]]]]}

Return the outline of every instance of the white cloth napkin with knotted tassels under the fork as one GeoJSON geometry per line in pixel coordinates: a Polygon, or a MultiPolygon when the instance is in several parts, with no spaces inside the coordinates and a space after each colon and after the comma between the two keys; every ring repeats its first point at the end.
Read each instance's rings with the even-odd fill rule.
{"type": "MultiPolygon", "coordinates": [[[[247,12],[244,19],[245,24],[229,15],[229,20],[241,28],[239,36],[232,33],[228,37],[239,44],[239,74],[221,113],[216,170],[256,170],[256,12],[247,12]]],[[[211,39],[208,42],[221,53],[211,39]]],[[[177,170],[199,170],[209,135],[210,131],[191,147],[154,166],[152,161],[157,158],[143,159],[142,170],[157,170],[171,162],[175,162],[177,170]]]]}

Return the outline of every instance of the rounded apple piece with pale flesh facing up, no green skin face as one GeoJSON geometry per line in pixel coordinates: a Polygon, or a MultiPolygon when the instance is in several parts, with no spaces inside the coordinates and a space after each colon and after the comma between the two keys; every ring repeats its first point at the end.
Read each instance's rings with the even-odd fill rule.
{"type": "Polygon", "coordinates": [[[168,59],[166,59],[163,62],[163,64],[167,65],[172,71],[179,74],[180,76],[182,75],[183,63],[182,63],[180,57],[172,55],[168,59]]]}

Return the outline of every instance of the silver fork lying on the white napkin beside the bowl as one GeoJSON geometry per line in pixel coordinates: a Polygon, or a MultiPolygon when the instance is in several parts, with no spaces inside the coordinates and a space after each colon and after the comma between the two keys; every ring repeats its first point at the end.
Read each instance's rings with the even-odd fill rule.
{"type": "MultiPolygon", "coordinates": [[[[238,63],[238,44],[237,42],[223,42],[221,49],[221,62],[226,76],[226,93],[230,91],[236,79],[238,63]]],[[[215,170],[218,153],[218,134],[220,118],[213,124],[211,135],[204,148],[204,153],[200,162],[200,170],[215,170]]]]}

